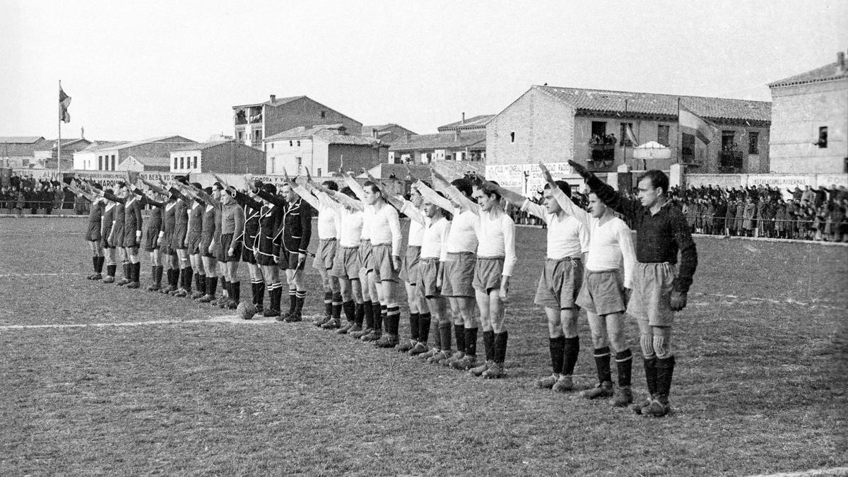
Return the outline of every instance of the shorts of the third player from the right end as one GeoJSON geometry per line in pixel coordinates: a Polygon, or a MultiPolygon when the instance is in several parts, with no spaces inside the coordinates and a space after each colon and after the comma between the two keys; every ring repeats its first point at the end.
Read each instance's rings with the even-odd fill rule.
{"type": "Polygon", "coordinates": [[[536,305],[557,310],[577,310],[577,294],[583,284],[583,260],[580,258],[548,259],[538,278],[536,305]]]}

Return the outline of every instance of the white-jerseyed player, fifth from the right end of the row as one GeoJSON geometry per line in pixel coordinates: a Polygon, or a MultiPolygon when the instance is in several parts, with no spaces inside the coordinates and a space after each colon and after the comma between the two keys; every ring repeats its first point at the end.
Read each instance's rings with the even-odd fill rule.
{"type": "MultiPolygon", "coordinates": [[[[421,186],[421,194],[431,203],[450,210],[453,220],[450,234],[444,247],[447,251],[444,262],[444,286],[442,295],[448,298],[450,314],[454,320],[456,352],[440,364],[452,366],[465,358],[474,356],[477,361],[477,323],[474,321],[476,293],[472,286],[474,267],[477,263],[477,228],[480,217],[471,210],[476,206],[470,199],[471,181],[465,177],[448,182],[438,171],[432,170],[433,185],[451,199],[435,194],[431,188],[421,186]]],[[[466,361],[467,362],[467,361],[466,361]]]]}

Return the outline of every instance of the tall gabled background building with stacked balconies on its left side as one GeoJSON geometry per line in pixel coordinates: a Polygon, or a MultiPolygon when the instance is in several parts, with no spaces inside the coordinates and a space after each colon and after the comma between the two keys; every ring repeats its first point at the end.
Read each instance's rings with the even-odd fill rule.
{"type": "Polygon", "coordinates": [[[236,141],[262,146],[266,137],[295,127],[312,127],[323,124],[341,124],[348,131],[360,132],[362,123],[330,109],[324,104],[305,96],[271,99],[265,103],[239,104],[232,107],[236,141]]]}

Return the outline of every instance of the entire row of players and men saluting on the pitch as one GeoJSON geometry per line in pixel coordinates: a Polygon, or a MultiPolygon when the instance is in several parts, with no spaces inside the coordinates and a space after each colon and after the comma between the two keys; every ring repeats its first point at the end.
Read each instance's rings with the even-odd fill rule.
{"type": "Polygon", "coordinates": [[[589,317],[599,382],[581,396],[612,397],[616,407],[630,405],[644,415],[666,415],[675,365],[673,316],[686,306],[697,266],[689,227],[666,199],[668,178],[663,172],[648,171],[640,177],[639,199],[632,200],[583,166],[571,165],[592,191],[589,212],[572,203],[569,185],[555,181],[544,165],[539,165],[547,182],[544,205],[484,177],[449,182],[436,170],[432,188],[410,172],[410,199],[391,193],[374,177],[360,186],[351,174],[344,177],[342,190],[336,182],[313,182],[308,173],[299,184],[287,177],[281,194],[273,184],[249,179],[243,193],[220,178],[205,190],[185,178],[167,190],[145,182],[153,197],[131,183],[120,184],[117,194],[86,182],[70,188],[93,202],[86,239],[95,273],[89,278],[102,278],[108,261],[103,281],[114,281],[114,250],[119,250],[125,277],[118,283],[140,286],[141,205],[153,205],[144,244],[153,264],[149,289],[161,288],[167,266],[168,286],[162,291],[215,301],[246,319],[256,312],[286,322],[302,319],[302,275],[310,255],[312,211],[317,210],[319,241],[313,266],[321,275],[325,312],[315,324],[485,378],[505,373],[505,304],[517,261],[515,225],[503,208],[507,201],[547,224],[547,260],[534,302],[544,307],[547,317],[553,373],[539,379],[538,387],[574,389],[572,373],[580,347],[577,311],[582,307],[589,317]],[[638,232],[635,250],[630,229],[614,211],[633,219],[638,232]],[[401,250],[399,212],[410,218],[406,250],[401,250]],[[248,266],[251,304],[239,305],[240,261],[248,266]],[[289,291],[287,312],[280,310],[281,269],[289,291]],[[216,299],[219,277],[224,298],[216,299]],[[194,294],[192,279],[198,289],[194,294]],[[410,340],[401,342],[399,300],[404,289],[410,340]],[[649,392],[637,404],[624,311],[639,324],[649,392]],[[431,322],[438,330],[428,345],[431,322]],[[478,328],[483,328],[486,356],[479,361],[478,328]],[[617,386],[611,379],[612,356],[617,386]]]}

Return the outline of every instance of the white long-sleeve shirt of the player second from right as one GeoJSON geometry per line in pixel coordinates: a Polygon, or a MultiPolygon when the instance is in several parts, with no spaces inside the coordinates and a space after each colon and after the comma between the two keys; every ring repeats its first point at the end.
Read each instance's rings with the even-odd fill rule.
{"type": "Polygon", "coordinates": [[[589,227],[589,254],[586,269],[590,272],[624,270],[624,287],[633,288],[633,267],[636,252],[633,249],[633,233],[622,219],[611,217],[601,223],[586,210],[577,207],[566,194],[557,189],[551,194],[566,214],[574,216],[589,227]]]}

